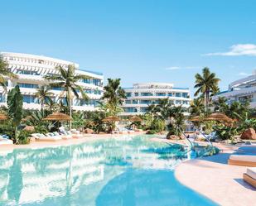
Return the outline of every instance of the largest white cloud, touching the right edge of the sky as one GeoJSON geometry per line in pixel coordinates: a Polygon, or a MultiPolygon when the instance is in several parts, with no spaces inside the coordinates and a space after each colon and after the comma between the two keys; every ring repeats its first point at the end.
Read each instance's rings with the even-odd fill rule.
{"type": "Polygon", "coordinates": [[[215,52],[205,55],[228,55],[228,56],[238,56],[238,55],[249,55],[256,56],[256,45],[253,44],[239,44],[230,47],[229,51],[226,52],[215,52]]]}

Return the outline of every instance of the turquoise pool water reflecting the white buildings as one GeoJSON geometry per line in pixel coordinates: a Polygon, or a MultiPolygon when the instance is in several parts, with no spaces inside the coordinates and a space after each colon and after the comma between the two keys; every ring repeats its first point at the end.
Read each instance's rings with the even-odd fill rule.
{"type": "Polygon", "coordinates": [[[174,177],[173,168],[190,153],[149,138],[0,153],[0,204],[216,205],[174,177]]]}

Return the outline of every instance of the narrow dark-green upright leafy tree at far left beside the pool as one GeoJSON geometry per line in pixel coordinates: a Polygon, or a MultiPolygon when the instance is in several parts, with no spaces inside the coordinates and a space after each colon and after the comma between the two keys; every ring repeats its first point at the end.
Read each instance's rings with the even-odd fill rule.
{"type": "Polygon", "coordinates": [[[8,116],[12,119],[12,126],[14,127],[14,141],[18,141],[17,127],[22,122],[22,105],[23,98],[19,86],[11,89],[7,94],[8,116]]]}

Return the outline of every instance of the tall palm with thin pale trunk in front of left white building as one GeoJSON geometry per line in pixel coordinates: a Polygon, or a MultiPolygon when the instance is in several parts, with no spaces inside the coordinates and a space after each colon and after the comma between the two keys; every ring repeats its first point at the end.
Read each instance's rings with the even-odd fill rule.
{"type": "MultiPolygon", "coordinates": [[[[45,79],[52,81],[50,83],[51,87],[60,87],[64,89],[62,94],[65,94],[68,107],[70,109],[70,117],[72,117],[73,95],[75,95],[76,98],[80,98],[80,95],[79,95],[79,92],[80,92],[84,100],[89,99],[85,91],[82,89],[82,87],[77,84],[77,82],[80,79],[89,79],[89,76],[84,74],[75,74],[74,65],[68,65],[67,69],[63,68],[62,66],[57,66],[56,69],[59,71],[60,74],[46,75],[45,79]]],[[[71,122],[70,122],[70,129],[71,129],[71,122]]]]}

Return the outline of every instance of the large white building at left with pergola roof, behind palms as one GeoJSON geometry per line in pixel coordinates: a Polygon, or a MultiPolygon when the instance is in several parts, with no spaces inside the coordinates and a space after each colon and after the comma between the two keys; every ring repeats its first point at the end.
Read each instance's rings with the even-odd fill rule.
{"type": "MultiPolygon", "coordinates": [[[[103,93],[103,74],[80,70],[79,65],[66,60],[58,60],[41,55],[27,55],[19,53],[1,52],[3,60],[8,64],[9,69],[18,75],[18,79],[7,80],[7,90],[19,85],[23,95],[23,108],[40,109],[41,105],[35,97],[36,89],[42,84],[48,84],[44,79],[46,74],[58,74],[56,66],[60,65],[67,68],[68,65],[75,65],[76,74],[85,74],[89,79],[80,80],[78,83],[85,93],[89,96],[89,101],[85,102],[80,98],[74,99],[73,109],[80,111],[94,111],[95,106],[103,93]]],[[[59,102],[61,88],[53,88],[52,93],[55,95],[52,99],[59,102]]],[[[0,87],[0,105],[6,105],[7,92],[0,87]]]]}

